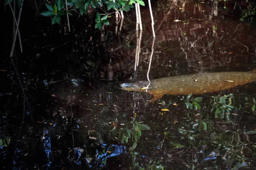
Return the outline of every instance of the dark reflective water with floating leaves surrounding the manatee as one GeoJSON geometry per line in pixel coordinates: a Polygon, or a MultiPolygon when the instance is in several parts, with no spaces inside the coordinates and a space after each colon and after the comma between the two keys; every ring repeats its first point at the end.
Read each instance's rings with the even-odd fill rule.
{"type": "Polygon", "coordinates": [[[17,63],[34,122],[26,107],[20,133],[23,98],[6,57],[0,65],[2,167],[256,169],[255,82],[154,102],[151,94],[119,88],[126,79],[147,79],[149,64],[150,79],[256,68],[252,2],[175,2],[152,4],[154,45],[148,8],[141,9],[141,42],[135,10],[101,31],[93,14],[87,22],[74,18],[71,33],[64,24],[47,27],[49,18],[37,17],[32,28],[23,19],[17,63]]]}

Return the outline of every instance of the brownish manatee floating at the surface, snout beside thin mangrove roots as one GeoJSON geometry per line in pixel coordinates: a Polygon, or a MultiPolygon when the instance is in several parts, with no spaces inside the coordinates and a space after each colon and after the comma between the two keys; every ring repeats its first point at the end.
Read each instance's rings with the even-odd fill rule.
{"type": "MultiPolygon", "coordinates": [[[[163,94],[187,95],[221,91],[256,81],[256,71],[187,74],[151,80],[147,92],[154,98],[163,94]]],[[[126,91],[145,91],[148,81],[124,82],[120,86],[126,91]]]]}

